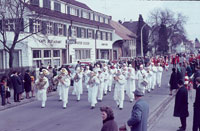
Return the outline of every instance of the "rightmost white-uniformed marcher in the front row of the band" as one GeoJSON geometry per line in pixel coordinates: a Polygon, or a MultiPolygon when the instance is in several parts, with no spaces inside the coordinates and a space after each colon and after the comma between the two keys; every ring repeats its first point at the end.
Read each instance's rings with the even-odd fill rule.
{"type": "Polygon", "coordinates": [[[115,92],[114,92],[114,100],[120,109],[123,108],[124,104],[124,86],[126,79],[124,75],[119,75],[119,80],[116,81],[115,92]]]}

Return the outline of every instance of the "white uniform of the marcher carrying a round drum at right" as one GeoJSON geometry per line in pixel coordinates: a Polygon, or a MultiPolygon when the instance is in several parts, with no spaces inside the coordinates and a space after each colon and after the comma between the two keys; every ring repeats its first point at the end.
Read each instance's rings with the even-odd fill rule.
{"type": "Polygon", "coordinates": [[[144,69],[138,70],[138,72],[137,72],[138,87],[137,88],[140,91],[142,91],[143,93],[145,93],[146,86],[144,86],[142,84],[142,82],[144,81],[144,79],[146,79],[146,77],[147,77],[147,73],[146,73],[146,71],[144,69]]]}

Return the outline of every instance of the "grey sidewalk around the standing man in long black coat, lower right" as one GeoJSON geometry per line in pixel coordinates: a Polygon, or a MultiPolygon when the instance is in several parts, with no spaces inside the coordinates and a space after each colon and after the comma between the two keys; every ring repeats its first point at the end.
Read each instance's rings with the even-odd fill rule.
{"type": "MultiPolygon", "coordinates": [[[[176,131],[181,126],[179,117],[173,117],[175,96],[166,106],[166,108],[160,113],[157,120],[154,121],[153,125],[148,131],[176,131]]],[[[187,117],[187,129],[186,131],[192,130],[193,122],[193,103],[195,99],[195,91],[192,92],[192,98],[188,96],[188,110],[189,117],[187,117]]]]}

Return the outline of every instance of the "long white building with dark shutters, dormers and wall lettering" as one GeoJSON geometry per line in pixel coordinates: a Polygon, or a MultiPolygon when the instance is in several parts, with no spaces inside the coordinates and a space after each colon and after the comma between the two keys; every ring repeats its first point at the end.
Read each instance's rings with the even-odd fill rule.
{"type": "MultiPolygon", "coordinates": [[[[31,33],[36,35],[16,45],[14,67],[40,67],[41,63],[61,66],[78,60],[112,58],[111,16],[75,0],[27,0],[24,5],[31,14],[23,18],[23,25],[29,27],[22,31],[20,38],[31,33]]],[[[14,33],[10,29],[15,24],[11,19],[5,23],[11,45],[14,33]]],[[[8,68],[8,53],[2,45],[0,58],[3,60],[0,68],[8,68]]]]}

